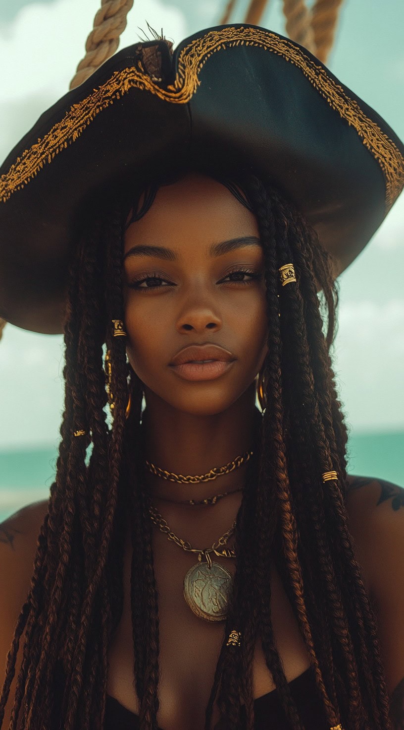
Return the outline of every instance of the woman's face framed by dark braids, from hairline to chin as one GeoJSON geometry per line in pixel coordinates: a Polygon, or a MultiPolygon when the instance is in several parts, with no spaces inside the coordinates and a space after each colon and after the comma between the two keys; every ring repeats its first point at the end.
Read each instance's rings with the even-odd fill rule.
{"type": "Polygon", "coordinates": [[[146,400],[151,391],[195,415],[230,407],[267,352],[264,259],[255,216],[224,185],[187,174],[160,188],[146,215],[131,223],[123,266],[128,358],[146,400]],[[188,380],[173,358],[205,343],[225,348],[230,361],[209,380],[206,366],[199,366],[198,380],[188,380]]]}

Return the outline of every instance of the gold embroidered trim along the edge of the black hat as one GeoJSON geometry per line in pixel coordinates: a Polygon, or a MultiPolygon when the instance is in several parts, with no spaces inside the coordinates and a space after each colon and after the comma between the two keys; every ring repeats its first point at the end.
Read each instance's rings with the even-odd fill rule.
{"type": "Polygon", "coordinates": [[[57,122],[35,145],[25,150],[12,164],[9,172],[1,176],[0,199],[7,201],[12,193],[26,185],[45,164],[52,162],[55,155],[75,142],[99,112],[120,99],[131,88],[149,91],[171,104],[187,104],[201,83],[198,74],[208,58],[217,51],[237,45],[264,48],[297,66],[330,107],[356,129],[365,147],[368,147],[381,166],[386,183],[388,211],[404,187],[404,158],[394,142],[376,122],[365,115],[357,101],[347,96],[343,88],[327,75],[326,70],[308,58],[300,47],[260,28],[232,27],[209,31],[185,46],[179,54],[176,80],[166,89],[161,88],[144,72],[140,62],[139,68],[131,66],[114,72],[93,93],[77,104],[72,104],[63,120],[57,122]]]}

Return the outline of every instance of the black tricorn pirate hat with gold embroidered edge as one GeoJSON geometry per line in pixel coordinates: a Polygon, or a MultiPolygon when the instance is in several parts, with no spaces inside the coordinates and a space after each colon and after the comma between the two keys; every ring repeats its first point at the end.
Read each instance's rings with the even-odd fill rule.
{"type": "Polygon", "coordinates": [[[161,164],[243,167],[335,256],[362,251],[404,186],[404,147],[305,48],[257,26],[137,43],[44,112],[0,168],[0,316],[63,331],[66,272],[93,199],[161,164]]]}

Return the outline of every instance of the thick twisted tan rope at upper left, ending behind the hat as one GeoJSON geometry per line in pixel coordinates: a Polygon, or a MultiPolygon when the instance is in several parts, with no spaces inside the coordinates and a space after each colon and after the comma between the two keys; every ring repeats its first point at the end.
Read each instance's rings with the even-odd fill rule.
{"type": "Polygon", "coordinates": [[[94,18],[93,30],[85,43],[86,54],[77,66],[70,82],[74,89],[88,79],[101,64],[114,55],[120,42],[120,34],[126,28],[126,16],[133,0],[102,0],[94,18]]]}

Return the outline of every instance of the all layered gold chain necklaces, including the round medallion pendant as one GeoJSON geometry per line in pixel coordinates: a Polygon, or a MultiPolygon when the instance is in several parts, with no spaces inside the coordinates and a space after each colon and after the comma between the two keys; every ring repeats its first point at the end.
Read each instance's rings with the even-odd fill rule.
{"type": "MultiPolygon", "coordinates": [[[[162,479],[179,484],[197,484],[209,482],[224,474],[233,472],[234,469],[238,469],[242,464],[246,464],[252,457],[252,454],[252,451],[246,451],[246,453],[237,456],[233,461],[229,461],[228,464],[215,466],[209,472],[202,475],[184,476],[182,474],[174,474],[174,472],[167,472],[165,469],[160,469],[150,461],[145,461],[145,466],[149,472],[162,479]]],[[[222,497],[242,491],[242,489],[240,487],[233,491],[227,491],[199,500],[189,499],[176,502],[173,499],[160,499],[163,499],[165,502],[175,502],[175,504],[217,504],[218,500],[222,499],[222,497]]],[[[175,542],[179,548],[189,553],[198,554],[198,562],[188,570],[184,577],[184,599],[190,609],[195,615],[199,618],[204,618],[206,621],[225,621],[228,604],[233,593],[233,576],[225,567],[212,560],[211,553],[222,558],[236,558],[235,550],[226,547],[228,540],[232,537],[236,529],[236,520],[234,520],[230,529],[222,534],[210,548],[193,548],[190,542],[184,541],[181,537],[177,537],[174,534],[166,520],[151,503],[149,504],[149,515],[152,522],[158,526],[160,531],[165,533],[168,539],[175,542]]]]}

